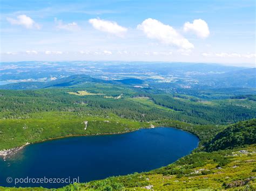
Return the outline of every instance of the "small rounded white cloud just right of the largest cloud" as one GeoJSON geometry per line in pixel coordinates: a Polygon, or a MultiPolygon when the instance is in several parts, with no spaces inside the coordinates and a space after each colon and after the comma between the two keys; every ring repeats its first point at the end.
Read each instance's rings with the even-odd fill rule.
{"type": "Polygon", "coordinates": [[[185,32],[192,31],[200,38],[206,38],[210,34],[207,23],[202,19],[195,19],[193,23],[186,22],[183,26],[183,30],[185,32]]]}

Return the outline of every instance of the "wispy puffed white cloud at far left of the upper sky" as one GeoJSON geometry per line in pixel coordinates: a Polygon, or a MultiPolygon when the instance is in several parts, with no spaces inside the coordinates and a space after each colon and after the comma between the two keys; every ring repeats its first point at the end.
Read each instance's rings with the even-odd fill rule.
{"type": "Polygon", "coordinates": [[[19,15],[17,16],[17,19],[9,17],[7,17],[6,19],[12,25],[22,25],[27,29],[40,29],[40,26],[35,21],[33,21],[33,19],[26,15],[19,15]]]}

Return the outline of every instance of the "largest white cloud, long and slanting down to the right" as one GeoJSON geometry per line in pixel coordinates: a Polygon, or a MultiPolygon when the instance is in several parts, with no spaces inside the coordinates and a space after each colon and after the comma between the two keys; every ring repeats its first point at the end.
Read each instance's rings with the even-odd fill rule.
{"type": "Polygon", "coordinates": [[[137,29],[142,30],[147,38],[157,39],[161,43],[175,45],[179,48],[190,49],[194,48],[187,39],[181,36],[170,25],[165,25],[156,19],[148,18],[137,26],[137,29]]]}

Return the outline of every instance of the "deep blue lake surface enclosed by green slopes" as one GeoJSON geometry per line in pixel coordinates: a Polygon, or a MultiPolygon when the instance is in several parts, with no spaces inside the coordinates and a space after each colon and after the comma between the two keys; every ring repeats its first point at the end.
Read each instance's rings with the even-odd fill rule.
{"type": "Polygon", "coordinates": [[[70,178],[71,181],[79,176],[79,182],[86,182],[150,171],[189,154],[198,142],[196,136],[182,130],[154,128],[120,135],[69,137],[31,144],[6,161],[0,159],[0,186],[57,188],[69,183],[15,185],[14,182],[15,178],[44,176],[70,178]],[[12,178],[12,183],[6,182],[8,177],[12,178]]]}

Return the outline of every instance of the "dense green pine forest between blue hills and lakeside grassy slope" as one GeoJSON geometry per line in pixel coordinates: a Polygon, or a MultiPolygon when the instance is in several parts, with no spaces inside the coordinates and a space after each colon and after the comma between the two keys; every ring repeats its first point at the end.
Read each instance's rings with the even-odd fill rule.
{"type": "Polygon", "coordinates": [[[228,124],[255,117],[251,97],[208,101],[192,96],[165,94],[109,84],[79,88],[0,90],[2,118],[23,118],[35,112],[64,111],[106,117],[115,114],[140,122],[175,119],[193,124],[228,124]],[[88,91],[92,95],[70,92],[88,91]],[[120,98],[116,98],[119,95],[120,98]]]}

